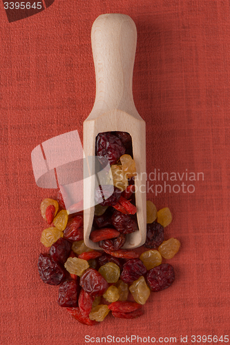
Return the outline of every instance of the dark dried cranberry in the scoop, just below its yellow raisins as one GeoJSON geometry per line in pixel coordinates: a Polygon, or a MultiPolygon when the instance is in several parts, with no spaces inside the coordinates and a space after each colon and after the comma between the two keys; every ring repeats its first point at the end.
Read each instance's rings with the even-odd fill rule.
{"type": "Polygon", "coordinates": [[[122,191],[112,185],[99,186],[95,190],[95,201],[102,206],[113,206],[117,204],[122,191]]]}

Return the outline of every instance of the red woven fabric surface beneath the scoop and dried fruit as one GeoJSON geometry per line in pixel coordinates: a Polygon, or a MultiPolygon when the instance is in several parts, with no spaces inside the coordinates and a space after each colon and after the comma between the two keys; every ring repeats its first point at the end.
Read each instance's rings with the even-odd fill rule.
{"type": "Polygon", "coordinates": [[[55,0],[13,23],[0,6],[0,343],[229,335],[229,1],[55,0]],[[171,209],[166,238],[182,243],[168,261],[175,283],[152,293],[139,319],[109,315],[87,327],[58,306],[57,286],[39,279],[46,228],[39,205],[55,193],[36,186],[30,153],[70,130],[82,138],[95,97],[90,29],[107,12],[128,14],[137,26],[133,95],[146,121],[148,173],[203,172],[204,181],[183,179],[194,193],[148,193],[158,209],[171,209]]]}

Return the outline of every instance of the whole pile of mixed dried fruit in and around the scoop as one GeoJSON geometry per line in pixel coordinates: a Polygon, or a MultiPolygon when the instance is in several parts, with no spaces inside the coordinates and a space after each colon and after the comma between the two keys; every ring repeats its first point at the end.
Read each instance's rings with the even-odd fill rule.
{"type": "Polygon", "coordinates": [[[41,234],[41,243],[50,250],[39,255],[39,275],[44,283],[59,285],[59,306],[88,326],[103,321],[110,311],[119,318],[141,316],[151,291],[164,290],[174,282],[173,266],[162,264],[162,258],[171,259],[180,248],[177,239],[164,241],[164,227],[172,220],[169,208],[157,212],[155,205],[147,201],[144,246],[149,250],[140,255],[136,250],[122,249],[126,234],[138,230],[136,208],[131,203],[135,163],[127,154],[131,149],[128,133],[115,134],[100,133],[97,137],[96,153],[102,157],[102,164],[106,157],[112,172],[119,166],[113,195],[106,198],[106,188],[103,193],[100,188],[96,190],[99,204],[95,206],[90,239],[102,250],[84,244],[83,213],[68,215],[63,190],[57,192],[57,200],[41,202],[41,215],[50,224],[41,234]],[[114,165],[118,160],[121,165],[114,165]],[[135,302],[127,301],[129,293],[135,302]]]}

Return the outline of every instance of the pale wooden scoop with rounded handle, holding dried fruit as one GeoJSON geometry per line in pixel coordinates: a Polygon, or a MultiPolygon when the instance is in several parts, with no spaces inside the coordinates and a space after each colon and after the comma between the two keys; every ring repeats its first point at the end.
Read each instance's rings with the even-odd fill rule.
{"type": "Polygon", "coordinates": [[[146,132],[145,122],[133,102],[133,64],[137,30],[133,19],[125,14],[101,14],[91,31],[96,74],[96,97],[93,110],[84,121],[84,242],[99,249],[90,240],[93,224],[95,179],[87,157],[95,156],[95,139],[99,132],[128,132],[133,142],[133,159],[137,168],[135,201],[139,231],[127,236],[122,248],[142,246],[146,240],[146,132]],[[90,204],[91,203],[91,204],[90,204]],[[89,207],[89,208],[88,208],[89,207]]]}

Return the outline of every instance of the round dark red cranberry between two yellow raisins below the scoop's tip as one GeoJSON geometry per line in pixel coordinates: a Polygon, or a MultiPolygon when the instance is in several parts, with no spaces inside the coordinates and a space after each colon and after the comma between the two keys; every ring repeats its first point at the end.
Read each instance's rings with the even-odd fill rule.
{"type": "Polygon", "coordinates": [[[80,286],[91,296],[101,296],[108,288],[108,283],[94,268],[88,268],[80,278],[80,286]]]}

